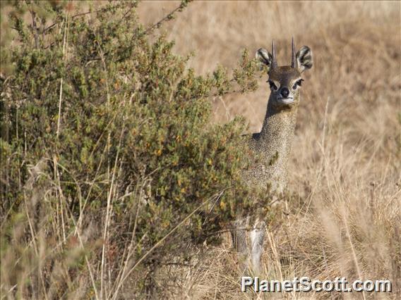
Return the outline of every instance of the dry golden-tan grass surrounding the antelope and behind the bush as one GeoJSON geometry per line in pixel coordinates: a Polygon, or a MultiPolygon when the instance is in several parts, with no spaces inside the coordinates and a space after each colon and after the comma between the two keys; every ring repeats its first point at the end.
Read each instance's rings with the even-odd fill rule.
{"type": "MultiPolygon", "coordinates": [[[[174,6],[145,2],[140,18],[151,24],[174,6]]],[[[241,49],[268,47],[273,38],[281,64],[289,63],[292,35],[311,46],[289,163],[297,196],[284,222],[268,230],[263,277],[388,278],[392,294],[341,296],[400,297],[400,2],[195,2],[164,29],[177,52],[196,51],[198,73],[234,66],[241,49]]],[[[253,94],[215,99],[215,121],[243,115],[250,131],[260,130],[267,99],[263,77],[253,94]]],[[[191,276],[175,270],[185,278],[179,295],[242,299],[235,270],[227,237],[191,276]]],[[[277,295],[284,296],[318,295],[277,295]]]]}

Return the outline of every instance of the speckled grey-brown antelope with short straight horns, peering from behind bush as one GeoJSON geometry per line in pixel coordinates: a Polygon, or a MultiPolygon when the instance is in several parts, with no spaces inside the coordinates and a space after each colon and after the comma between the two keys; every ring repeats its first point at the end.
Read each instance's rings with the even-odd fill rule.
{"type": "MultiPolygon", "coordinates": [[[[292,63],[290,66],[278,66],[275,44],[272,54],[261,48],[256,51],[256,58],[268,67],[270,97],[261,132],[254,133],[249,147],[261,155],[259,165],[244,174],[248,185],[270,185],[270,191],[277,197],[287,186],[287,161],[294,137],[297,109],[300,101],[301,73],[313,65],[312,52],[308,46],[302,46],[295,53],[292,39],[292,63]]],[[[244,262],[243,268],[260,271],[261,254],[265,237],[265,222],[256,220],[249,224],[250,218],[237,220],[233,232],[234,246],[244,262]],[[251,226],[251,230],[248,228],[251,226]]]]}

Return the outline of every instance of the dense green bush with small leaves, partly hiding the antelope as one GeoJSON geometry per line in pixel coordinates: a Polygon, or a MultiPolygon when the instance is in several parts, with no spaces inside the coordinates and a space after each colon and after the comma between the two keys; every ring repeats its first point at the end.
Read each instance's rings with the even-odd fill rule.
{"type": "Polygon", "coordinates": [[[16,266],[2,267],[3,292],[116,296],[139,274],[143,293],[157,268],[218,244],[255,207],[258,191],[241,185],[252,163],[243,121],[210,123],[210,96],[256,89],[255,61],[244,51],[232,80],[221,66],[197,76],[190,56],[153,35],[161,23],[138,23],[136,6],[9,8],[17,34],[1,49],[1,265],[16,266]]]}

